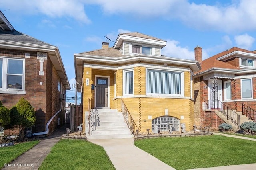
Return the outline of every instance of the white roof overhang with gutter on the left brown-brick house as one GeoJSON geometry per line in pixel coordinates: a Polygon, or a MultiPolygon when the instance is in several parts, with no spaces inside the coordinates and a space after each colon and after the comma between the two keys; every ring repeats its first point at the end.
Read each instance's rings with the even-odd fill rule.
{"type": "Polygon", "coordinates": [[[49,46],[36,45],[36,44],[30,44],[30,43],[19,43],[19,42],[13,42],[13,41],[0,40],[0,48],[47,53],[48,57],[52,61],[54,68],[58,73],[58,76],[60,77],[62,84],[66,89],[70,89],[70,84],[68,82],[68,77],[67,77],[58,47],[50,46],[50,45],[49,46]]]}

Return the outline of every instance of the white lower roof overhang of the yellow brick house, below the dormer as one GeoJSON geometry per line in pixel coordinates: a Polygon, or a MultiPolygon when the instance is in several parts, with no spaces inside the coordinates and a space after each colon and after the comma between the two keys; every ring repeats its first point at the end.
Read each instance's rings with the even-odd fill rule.
{"type": "MultiPolygon", "coordinates": [[[[84,67],[84,62],[86,61],[106,63],[106,65],[107,64],[118,65],[118,64],[124,64],[124,63],[130,63],[134,61],[147,61],[152,63],[163,63],[163,64],[166,63],[166,64],[188,66],[193,72],[199,71],[201,69],[200,64],[196,60],[178,59],[178,58],[156,56],[156,55],[134,54],[134,55],[121,56],[121,57],[104,57],[104,56],[74,54],[76,81],[79,84],[82,84],[83,67],[84,67]]],[[[111,69],[111,67],[109,67],[109,69],[111,69]]],[[[81,86],[78,85],[78,91],[80,92],[80,90],[81,90],[81,86]]]]}

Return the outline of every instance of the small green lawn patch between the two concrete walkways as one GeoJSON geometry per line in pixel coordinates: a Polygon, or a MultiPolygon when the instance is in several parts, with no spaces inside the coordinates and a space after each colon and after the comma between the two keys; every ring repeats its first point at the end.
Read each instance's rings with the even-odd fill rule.
{"type": "Polygon", "coordinates": [[[61,139],[40,170],[114,170],[103,147],[88,141],[61,139]]]}

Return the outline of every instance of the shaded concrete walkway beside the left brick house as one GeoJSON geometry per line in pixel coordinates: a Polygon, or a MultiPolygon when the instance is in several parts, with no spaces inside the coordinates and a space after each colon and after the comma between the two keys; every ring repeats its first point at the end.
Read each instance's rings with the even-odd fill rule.
{"type": "Polygon", "coordinates": [[[66,133],[66,126],[56,129],[50,136],[16,158],[3,170],[37,170],[52,147],[61,139],[63,133],[66,133]]]}

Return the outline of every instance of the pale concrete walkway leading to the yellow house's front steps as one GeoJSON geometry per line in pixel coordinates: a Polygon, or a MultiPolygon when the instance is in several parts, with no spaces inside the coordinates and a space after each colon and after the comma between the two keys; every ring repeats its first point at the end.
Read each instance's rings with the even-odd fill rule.
{"type": "Polygon", "coordinates": [[[102,146],[116,170],[175,170],[134,145],[134,139],[90,139],[102,146]]]}

